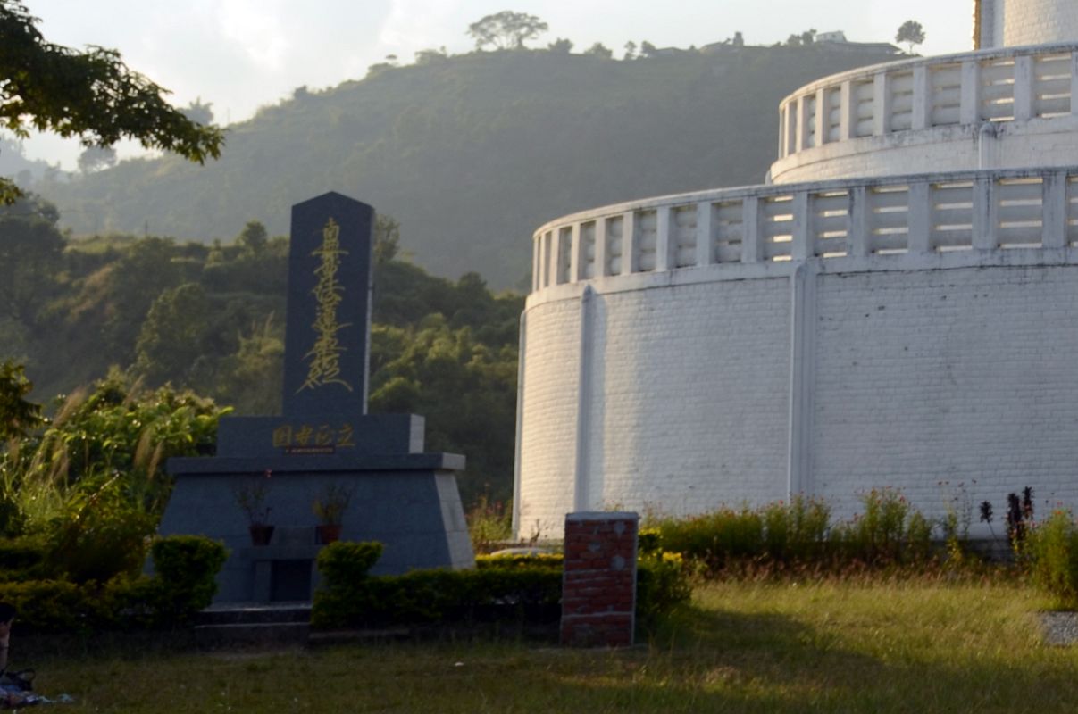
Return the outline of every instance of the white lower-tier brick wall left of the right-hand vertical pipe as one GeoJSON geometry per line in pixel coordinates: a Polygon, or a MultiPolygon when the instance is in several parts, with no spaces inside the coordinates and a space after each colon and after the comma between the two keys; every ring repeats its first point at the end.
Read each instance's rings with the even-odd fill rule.
{"type": "MultiPolygon", "coordinates": [[[[676,514],[784,498],[789,282],[600,295],[589,443],[591,507],[676,514]]],[[[520,530],[573,493],[579,302],[527,314],[520,530]]],[[[559,535],[561,527],[556,527],[559,535]]]]}

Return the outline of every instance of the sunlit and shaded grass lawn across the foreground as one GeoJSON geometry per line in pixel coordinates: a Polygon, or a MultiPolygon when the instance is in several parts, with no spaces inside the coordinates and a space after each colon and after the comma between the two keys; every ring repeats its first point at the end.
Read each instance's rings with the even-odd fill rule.
{"type": "Polygon", "coordinates": [[[442,643],[33,664],[42,694],[75,697],[56,710],[71,714],[1073,712],[1078,647],[1040,643],[1045,604],[998,584],[730,583],[620,652],[442,643]]]}

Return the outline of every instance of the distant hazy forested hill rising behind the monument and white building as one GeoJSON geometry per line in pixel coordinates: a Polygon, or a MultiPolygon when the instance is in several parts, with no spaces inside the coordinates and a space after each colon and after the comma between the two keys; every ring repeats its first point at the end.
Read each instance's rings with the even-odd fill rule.
{"type": "Polygon", "coordinates": [[[396,216],[402,249],[436,275],[522,284],[543,222],[603,204],[759,183],[779,99],[894,59],[828,44],[723,47],[613,60],[506,51],[384,66],[300,88],[230,127],[223,157],[176,157],[47,181],[37,191],[77,234],[209,242],[251,219],[288,230],[289,207],[338,191],[396,216]]]}

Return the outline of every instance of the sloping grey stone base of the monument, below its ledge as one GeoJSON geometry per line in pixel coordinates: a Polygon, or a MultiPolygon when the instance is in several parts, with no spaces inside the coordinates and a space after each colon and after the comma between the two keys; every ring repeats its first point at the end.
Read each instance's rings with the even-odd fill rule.
{"type": "MultiPolygon", "coordinates": [[[[261,471],[237,473],[262,474],[261,471]]],[[[450,471],[275,471],[268,479],[265,502],[275,531],[270,545],[264,547],[251,545],[247,517],[233,495],[233,489],[243,480],[243,476],[235,474],[177,473],[176,487],[160,528],[163,535],[205,535],[229,548],[229,559],[218,577],[215,603],[270,601],[274,591],[274,563],[294,568],[298,561],[309,562],[312,592],[318,587],[314,563],[323,546],[315,542],[317,519],[312,503],[329,485],[353,490],[342,519],[341,538],[385,544],[372,574],[474,566],[456,477],[450,471]]]]}

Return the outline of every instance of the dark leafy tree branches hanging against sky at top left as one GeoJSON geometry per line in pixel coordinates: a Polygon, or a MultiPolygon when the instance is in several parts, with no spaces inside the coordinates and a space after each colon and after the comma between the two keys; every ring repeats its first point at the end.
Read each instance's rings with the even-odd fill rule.
{"type": "MultiPolygon", "coordinates": [[[[86,146],[137,139],[147,149],[205,162],[221,153],[216,126],[192,122],[164,99],[166,89],[129,70],[114,50],[72,50],[45,41],[17,0],[0,0],[0,127],[79,137],[86,146]]],[[[20,195],[0,178],[0,200],[20,195]]]]}

